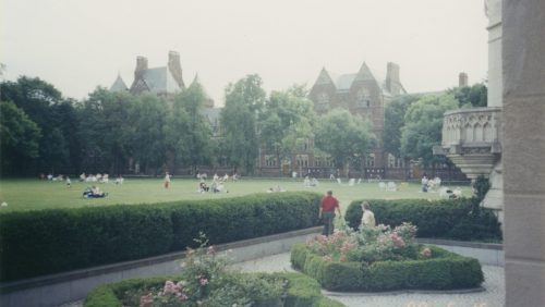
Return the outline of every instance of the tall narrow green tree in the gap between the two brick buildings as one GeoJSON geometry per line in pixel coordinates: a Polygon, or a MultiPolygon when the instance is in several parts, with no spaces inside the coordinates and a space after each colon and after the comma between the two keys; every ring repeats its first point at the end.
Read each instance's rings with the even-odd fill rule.
{"type": "Polygon", "coordinates": [[[250,173],[258,156],[256,119],[264,102],[265,90],[258,75],[249,75],[226,89],[226,107],[220,115],[223,150],[232,167],[244,167],[250,173]]]}

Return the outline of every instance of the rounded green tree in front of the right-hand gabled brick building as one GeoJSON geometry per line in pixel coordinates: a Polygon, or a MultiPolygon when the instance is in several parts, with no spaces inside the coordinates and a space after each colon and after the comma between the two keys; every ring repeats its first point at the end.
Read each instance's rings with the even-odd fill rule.
{"type": "Polygon", "coordinates": [[[329,154],[338,168],[362,159],[375,144],[371,123],[341,109],[322,115],[315,135],[316,147],[329,154]]]}

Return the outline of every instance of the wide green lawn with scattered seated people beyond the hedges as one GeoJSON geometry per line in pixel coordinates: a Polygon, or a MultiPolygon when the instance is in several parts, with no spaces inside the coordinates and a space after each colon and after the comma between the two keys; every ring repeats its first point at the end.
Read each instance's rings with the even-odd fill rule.
{"type": "MultiPolygon", "coordinates": [[[[210,181],[207,182],[209,185],[210,181]]],[[[96,184],[96,183],[95,183],[96,184]]],[[[347,182],[339,185],[337,182],[323,180],[316,187],[305,187],[302,181],[283,180],[251,180],[243,179],[239,182],[228,182],[229,193],[199,194],[196,193],[197,180],[172,179],[171,186],[166,189],[162,179],[128,179],[123,185],[113,183],[96,184],[101,191],[108,193],[106,198],[83,198],[82,193],[90,183],[72,182],[68,187],[63,182],[48,182],[39,180],[0,180],[0,202],[5,201],[7,207],[0,207],[0,212],[21,211],[44,208],[80,208],[84,206],[106,206],[116,204],[150,204],[173,201],[180,199],[210,199],[221,197],[242,196],[253,193],[267,192],[268,188],[280,185],[286,191],[313,191],[325,193],[334,191],[334,196],[339,198],[341,209],[344,211],[353,199],[362,198],[426,198],[438,199],[438,193],[421,193],[420,184],[410,183],[398,192],[380,191],[378,183],[361,183],[349,186],[347,182]]],[[[399,185],[399,183],[398,183],[399,185]]],[[[471,196],[471,187],[460,186],[464,196],[471,196]]]]}

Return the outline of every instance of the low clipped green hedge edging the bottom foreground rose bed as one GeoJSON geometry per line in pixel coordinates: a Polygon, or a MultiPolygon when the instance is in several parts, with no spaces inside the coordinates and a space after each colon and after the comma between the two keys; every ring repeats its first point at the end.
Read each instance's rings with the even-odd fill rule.
{"type": "MultiPolygon", "coordinates": [[[[261,275],[280,278],[288,281],[286,307],[342,307],[343,304],[322,295],[320,286],[315,280],[291,272],[270,273],[261,275]]],[[[167,280],[175,277],[159,277],[149,279],[126,280],[118,283],[100,285],[89,292],[83,303],[84,307],[122,307],[120,297],[125,291],[134,288],[161,287],[167,280]]]]}

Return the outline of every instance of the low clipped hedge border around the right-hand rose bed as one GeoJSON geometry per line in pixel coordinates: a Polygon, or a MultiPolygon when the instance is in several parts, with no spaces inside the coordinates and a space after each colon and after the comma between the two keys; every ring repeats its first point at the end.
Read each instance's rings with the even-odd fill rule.
{"type": "Polygon", "coordinates": [[[292,247],[291,262],[324,288],[330,291],[393,291],[473,288],[484,281],[481,265],[429,246],[432,258],[407,261],[360,262],[326,261],[312,254],[304,244],[292,247]]]}

